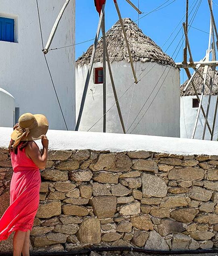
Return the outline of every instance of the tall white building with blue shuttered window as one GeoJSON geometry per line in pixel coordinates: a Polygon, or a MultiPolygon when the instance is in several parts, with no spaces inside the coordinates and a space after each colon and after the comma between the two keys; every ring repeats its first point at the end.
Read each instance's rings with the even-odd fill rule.
{"type": "MultiPolygon", "coordinates": [[[[65,0],[38,0],[44,46],[65,0]]],[[[36,1],[0,1],[0,86],[15,97],[15,121],[42,113],[51,129],[66,129],[46,67],[36,1]]],[[[75,42],[75,0],[69,2],[50,48],[75,42]]],[[[68,129],[75,127],[75,48],[46,55],[68,129]]],[[[0,109],[0,112],[2,109],[0,109]]]]}

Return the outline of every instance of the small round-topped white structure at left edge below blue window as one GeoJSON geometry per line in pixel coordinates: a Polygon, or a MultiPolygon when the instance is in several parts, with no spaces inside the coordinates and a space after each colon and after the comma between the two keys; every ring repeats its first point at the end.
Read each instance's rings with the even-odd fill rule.
{"type": "Polygon", "coordinates": [[[15,98],[0,88],[0,126],[12,127],[14,124],[15,98]]]}

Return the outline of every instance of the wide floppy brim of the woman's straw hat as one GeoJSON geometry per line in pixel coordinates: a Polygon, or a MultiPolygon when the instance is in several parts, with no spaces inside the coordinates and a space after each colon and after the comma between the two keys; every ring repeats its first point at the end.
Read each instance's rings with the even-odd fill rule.
{"type": "MultiPolygon", "coordinates": [[[[31,140],[39,140],[41,139],[41,135],[44,135],[48,131],[48,119],[46,116],[42,114],[34,114],[34,117],[36,118],[37,125],[33,127],[30,131],[27,137],[23,137],[21,141],[31,141],[31,140]]],[[[15,129],[13,133],[11,133],[11,139],[17,140],[19,136],[19,131],[15,129]]]]}

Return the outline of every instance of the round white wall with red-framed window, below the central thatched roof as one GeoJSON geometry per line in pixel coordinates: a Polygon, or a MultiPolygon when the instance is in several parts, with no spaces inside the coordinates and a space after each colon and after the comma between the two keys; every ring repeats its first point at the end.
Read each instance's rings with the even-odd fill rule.
{"type": "MultiPolygon", "coordinates": [[[[101,67],[102,63],[94,63],[94,68],[101,67]]],[[[127,129],[132,124],[134,118],[142,108],[150,93],[154,89],[151,97],[148,99],[143,111],[139,114],[132,127],[128,130],[130,133],[145,111],[151,104],[151,107],[145,114],[132,133],[161,135],[179,137],[180,135],[180,77],[179,70],[171,66],[163,66],[158,63],[137,63],[137,76],[139,82],[134,86],[134,79],[130,64],[125,61],[111,63],[115,87],[118,98],[128,90],[119,100],[121,111],[124,118],[124,124],[127,129]],[[150,70],[150,72],[149,72],[150,70]],[[163,74],[164,72],[164,74],[163,74]],[[169,72],[169,73],[168,73],[169,72]],[[161,77],[161,74],[163,76],[161,77]],[[167,75],[167,76],[166,76],[167,75]],[[161,78],[160,78],[161,77],[161,78]],[[159,80],[160,78],[160,80],[159,80]],[[164,81],[164,79],[166,80],[164,81]],[[159,80],[159,83],[157,83],[159,80]],[[161,86],[162,82],[163,85],[161,86]],[[132,87],[130,87],[132,85],[132,87]],[[130,89],[128,89],[130,87],[130,89]],[[159,88],[161,89],[159,90],[159,88]],[[159,90],[159,92],[158,92],[159,90]],[[132,93],[134,91],[133,97],[132,93]],[[157,94],[157,97],[155,95],[157,94]],[[154,99],[155,97],[155,99],[154,99]],[[132,107],[129,114],[129,109],[132,107]],[[153,100],[154,99],[154,100],[153,100]],[[151,103],[153,101],[153,103],[151,103]],[[129,116],[129,119],[128,119],[129,116]]],[[[76,113],[78,116],[82,92],[86,79],[88,65],[76,67],[76,113]]],[[[103,116],[103,84],[94,84],[93,71],[91,74],[88,93],[82,115],[80,131],[87,131],[96,121],[103,116]]],[[[115,103],[113,96],[109,72],[107,70],[107,110],[115,103]]],[[[103,118],[90,131],[103,131],[103,118]]],[[[122,133],[119,116],[114,105],[107,113],[107,132],[122,133]]]]}

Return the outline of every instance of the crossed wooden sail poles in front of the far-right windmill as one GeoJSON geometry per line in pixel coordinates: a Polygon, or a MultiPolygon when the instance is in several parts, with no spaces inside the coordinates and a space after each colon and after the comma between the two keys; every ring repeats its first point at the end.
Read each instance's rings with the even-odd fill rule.
{"type": "Polygon", "coordinates": [[[214,128],[216,123],[216,114],[217,114],[217,108],[218,108],[218,96],[216,97],[216,106],[214,110],[214,116],[212,121],[212,127],[210,126],[208,122],[208,113],[211,107],[211,96],[213,93],[213,85],[214,85],[214,76],[216,71],[216,66],[218,66],[218,61],[216,59],[216,48],[218,49],[218,32],[216,28],[216,23],[214,20],[214,14],[212,10],[212,0],[208,0],[208,5],[210,9],[210,33],[209,33],[209,42],[208,42],[208,49],[206,51],[205,57],[201,59],[200,61],[194,61],[191,53],[191,47],[189,43],[189,37],[188,37],[188,10],[189,10],[189,0],[187,0],[187,12],[186,12],[186,22],[183,23],[183,29],[184,29],[184,35],[185,35],[185,48],[184,48],[184,57],[182,63],[176,63],[178,68],[184,68],[189,80],[186,84],[186,86],[183,88],[183,93],[187,90],[189,87],[193,87],[193,90],[195,91],[195,96],[197,97],[198,101],[198,110],[197,110],[197,116],[195,119],[195,124],[193,127],[193,132],[191,135],[191,138],[194,139],[196,135],[196,129],[197,125],[199,123],[199,115],[202,112],[203,118],[204,118],[204,124],[203,124],[203,131],[202,131],[202,140],[205,139],[205,131],[206,127],[208,127],[208,130],[210,132],[210,140],[213,140],[214,137],[214,128]],[[216,36],[216,37],[215,37],[216,36]],[[216,38],[216,40],[215,40],[216,38]],[[189,62],[187,62],[187,52],[189,52],[189,62]],[[212,53],[212,60],[210,60],[210,53],[212,53]],[[211,72],[208,72],[209,67],[211,67],[211,72]],[[193,68],[194,72],[191,75],[191,72],[189,68],[193,68]],[[203,68],[203,74],[199,71],[203,68]],[[201,93],[199,97],[199,92],[196,89],[195,83],[193,82],[196,78],[196,76],[200,76],[200,79],[202,80],[202,87],[201,87],[201,93]],[[208,97],[208,103],[206,110],[203,108],[202,102],[204,97],[205,89],[209,89],[209,97],[208,97]]]}

